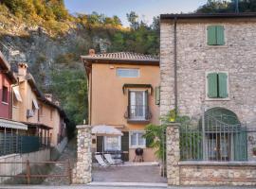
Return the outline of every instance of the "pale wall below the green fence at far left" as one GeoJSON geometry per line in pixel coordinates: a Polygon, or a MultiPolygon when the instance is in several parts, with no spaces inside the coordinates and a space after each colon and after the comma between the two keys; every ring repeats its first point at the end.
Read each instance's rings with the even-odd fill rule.
{"type": "MultiPolygon", "coordinates": [[[[25,154],[10,154],[0,157],[0,175],[18,175],[27,169],[27,160],[30,163],[46,162],[50,160],[50,149],[44,149],[25,154]],[[5,163],[17,162],[17,163],[5,163]],[[20,163],[19,163],[20,162],[20,163]],[[23,163],[23,164],[22,164],[23,163]]],[[[0,183],[9,178],[0,178],[0,183]]]]}

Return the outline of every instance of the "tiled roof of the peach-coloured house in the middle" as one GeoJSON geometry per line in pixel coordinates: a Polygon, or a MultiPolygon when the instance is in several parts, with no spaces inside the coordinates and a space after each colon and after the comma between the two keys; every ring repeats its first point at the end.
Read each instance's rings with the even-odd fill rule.
{"type": "Polygon", "coordinates": [[[153,55],[143,55],[133,52],[116,52],[116,53],[102,53],[82,56],[82,60],[114,60],[114,61],[126,61],[126,62],[155,62],[159,63],[159,58],[153,55]]]}

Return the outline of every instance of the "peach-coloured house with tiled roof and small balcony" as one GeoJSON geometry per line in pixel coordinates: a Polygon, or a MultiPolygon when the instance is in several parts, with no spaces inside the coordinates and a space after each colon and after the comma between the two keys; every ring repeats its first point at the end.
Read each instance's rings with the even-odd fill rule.
{"type": "Polygon", "coordinates": [[[121,151],[123,160],[133,161],[140,147],[144,161],[155,161],[154,149],[142,135],[146,125],[159,122],[159,60],[136,53],[95,54],[90,50],[82,61],[88,77],[89,124],[113,126],[123,133],[121,137],[95,137],[94,148],[121,151]]]}

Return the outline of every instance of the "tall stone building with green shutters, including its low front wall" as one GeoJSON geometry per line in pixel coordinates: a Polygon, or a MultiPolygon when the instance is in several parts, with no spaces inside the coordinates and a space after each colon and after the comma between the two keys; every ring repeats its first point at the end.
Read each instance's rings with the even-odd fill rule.
{"type": "MultiPolygon", "coordinates": [[[[169,183],[254,183],[247,176],[255,173],[245,173],[248,166],[255,167],[247,162],[256,160],[255,60],[256,13],[160,16],[160,116],[171,110],[189,115],[200,136],[199,141],[189,137],[186,150],[175,143],[181,145],[181,157],[171,165],[172,170],[179,167],[180,175],[172,180],[177,175],[171,171],[169,183]],[[230,170],[237,171],[239,180],[230,170]]],[[[172,154],[168,160],[176,160],[172,154]]]]}

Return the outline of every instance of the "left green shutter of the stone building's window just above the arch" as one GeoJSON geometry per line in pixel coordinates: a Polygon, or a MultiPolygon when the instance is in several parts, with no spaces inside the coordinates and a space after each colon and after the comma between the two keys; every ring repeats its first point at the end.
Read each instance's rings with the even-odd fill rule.
{"type": "Polygon", "coordinates": [[[210,73],[208,76],[208,97],[218,97],[217,73],[210,73]]]}

